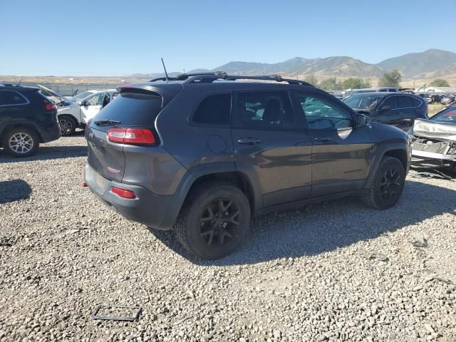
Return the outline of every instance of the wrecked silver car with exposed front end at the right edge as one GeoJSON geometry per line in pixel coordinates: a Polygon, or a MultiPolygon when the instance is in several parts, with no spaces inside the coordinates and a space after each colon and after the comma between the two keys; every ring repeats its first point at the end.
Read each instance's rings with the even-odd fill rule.
{"type": "Polygon", "coordinates": [[[456,171],[456,104],[430,120],[415,120],[409,135],[413,163],[450,167],[456,171]]]}

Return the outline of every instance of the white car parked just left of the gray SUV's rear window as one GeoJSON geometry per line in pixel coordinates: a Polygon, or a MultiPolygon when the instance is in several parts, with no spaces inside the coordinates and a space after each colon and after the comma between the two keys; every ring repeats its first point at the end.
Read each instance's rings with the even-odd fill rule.
{"type": "Polygon", "coordinates": [[[117,95],[115,89],[100,89],[88,90],[71,98],[69,105],[57,110],[62,135],[72,135],[76,128],[85,128],[88,120],[117,95]]]}

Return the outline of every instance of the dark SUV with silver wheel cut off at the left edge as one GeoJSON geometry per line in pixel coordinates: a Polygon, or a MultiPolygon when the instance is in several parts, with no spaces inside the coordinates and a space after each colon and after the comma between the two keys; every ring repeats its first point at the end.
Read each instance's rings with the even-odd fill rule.
{"type": "Polygon", "coordinates": [[[0,145],[14,157],[33,155],[60,137],[57,108],[39,88],[0,84],[0,145]]]}

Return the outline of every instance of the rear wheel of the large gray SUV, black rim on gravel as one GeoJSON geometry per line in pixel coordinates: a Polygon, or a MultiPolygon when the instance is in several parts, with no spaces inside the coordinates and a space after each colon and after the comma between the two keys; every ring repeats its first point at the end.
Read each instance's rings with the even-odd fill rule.
{"type": "Polygon", "coordinates": [[[182,206],[175,234],[185,249],[202,259],[225,257],[247,237],[250,205],[229,182],[197,185],[182,206]]]}

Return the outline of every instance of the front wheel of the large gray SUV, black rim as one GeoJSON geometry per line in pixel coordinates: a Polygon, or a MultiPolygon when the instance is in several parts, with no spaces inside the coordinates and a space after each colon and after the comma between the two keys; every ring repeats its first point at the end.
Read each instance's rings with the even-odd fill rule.
{"type": "Polygon", "coordinates": [[[371,183],[371,189],[362,197],[363,202],[375,209],[393,207],[402,195],[405,170],[395,157],[383,157],[371,183]]]}

